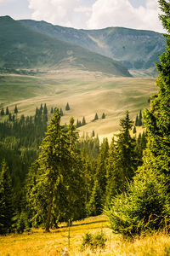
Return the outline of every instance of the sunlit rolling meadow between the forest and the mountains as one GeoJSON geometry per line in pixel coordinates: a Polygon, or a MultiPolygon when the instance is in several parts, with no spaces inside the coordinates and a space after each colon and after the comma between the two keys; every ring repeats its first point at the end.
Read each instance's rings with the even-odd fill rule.
{"type": "Polygon", "coordinates": [[[62,123],[68,122],[72,115],[82,121],[84,116],[87,125],[79,131],[94,130],[99,137],[112,137],[119,130],[119,119],[129,110],[135,119],[140,109],[148,108],[148,99],[156,91],[156,79],[152,78],[115,78],[102,73],[77,72],[63,70],[37,76],[1,75],[0,107],[8,106],[14,110],[15,104],[19,114],[33,115],[41,103],[59,107],[64,111],[62,123]],[[69,102],[70,111],[65,112],[69,102]],[[95,113],[99,120],[92,122],[95,113]],[[102,113],[106,119],[101,119],[102,113]]]}

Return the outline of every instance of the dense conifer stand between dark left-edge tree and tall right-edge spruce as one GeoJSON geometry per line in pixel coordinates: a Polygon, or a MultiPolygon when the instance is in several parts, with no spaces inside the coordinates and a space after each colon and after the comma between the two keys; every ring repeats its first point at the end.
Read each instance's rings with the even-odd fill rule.
{"type": "MultiPolygon", "coordinates": [[[[122,193],[127,180],[132,179],[137,168],[134,159],[140,157],[141,161],[139,146],[129,135],[132,121],[128,113],[121,120],[118,140],[113,140],[111,146],[107,139],[100,144],[94,133],[92,137],[78,138],[74,119],[69,125],[61,125],[60,118],[55,108],[47,129],[48,108],[44,104],[36,109],[34,117],[21,115],[0,123],[2,170],[8,169],[12,179],[14,212],[10,216],[15,216],[13,226],[18,232],[40,224],[48,231],[61,221],[101,213],[105,202],[122,193]],[[118,163],[126,159],[125,149],[121,148],[123,139],[132,148],[132,160],[125,172],[118,163]]],[[[2,179],[1,189],[3,183],[2,179]]],[[[6,232],[11,230],[6,228],[6,232]]]]}

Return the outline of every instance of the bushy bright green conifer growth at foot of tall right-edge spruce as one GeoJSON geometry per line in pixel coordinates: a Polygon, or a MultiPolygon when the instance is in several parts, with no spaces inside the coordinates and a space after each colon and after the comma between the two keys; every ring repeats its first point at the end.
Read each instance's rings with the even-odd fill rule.
{"type": "Polygon", "coordinates": [[[161,175],[140,169],[127,194],[118,195],[105,211],[114,232],[134,236],[169,224],[167,187],[162,180],[161,175]]]}

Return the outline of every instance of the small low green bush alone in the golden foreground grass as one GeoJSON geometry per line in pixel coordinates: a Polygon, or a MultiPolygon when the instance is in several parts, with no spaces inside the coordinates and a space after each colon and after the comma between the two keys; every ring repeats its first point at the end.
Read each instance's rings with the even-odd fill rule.
{"type": "Polygon", "coordinates": [[[107,241],[107,237],[101,230],[100,233],[90,234],[86,233],[85,236],[82,237],[82,249],[90,247],[92,250],[105,247],[105,242],[107,241]]]}

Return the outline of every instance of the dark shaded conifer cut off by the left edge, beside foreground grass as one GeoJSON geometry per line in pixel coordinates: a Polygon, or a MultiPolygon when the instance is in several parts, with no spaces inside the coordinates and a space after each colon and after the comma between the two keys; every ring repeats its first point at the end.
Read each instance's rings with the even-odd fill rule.
{"type": "Polygon", "coordinates": [[[14,224],[14,196],[11,178],[5,160],[0,172],[0,234],[10,233],[14,224]]]}

